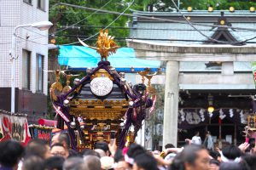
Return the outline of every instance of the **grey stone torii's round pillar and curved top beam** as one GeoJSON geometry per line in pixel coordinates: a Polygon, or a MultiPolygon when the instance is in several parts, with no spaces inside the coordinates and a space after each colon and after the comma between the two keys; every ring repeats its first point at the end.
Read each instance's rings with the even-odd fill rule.
{"type": "Polygon", "coordinates": [[[256,46],[173,44],[127,40],[137,58],[163,60],[166,63],[163,145],[177,145],[179,61],[256,61],[256,46]]]}

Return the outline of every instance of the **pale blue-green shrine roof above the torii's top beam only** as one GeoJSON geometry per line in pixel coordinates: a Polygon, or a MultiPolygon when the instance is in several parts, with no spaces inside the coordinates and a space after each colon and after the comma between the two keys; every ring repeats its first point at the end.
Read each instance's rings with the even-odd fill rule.
{"type": "MultiPolygon", "coordinates": [[[[148,13],[148,12],[139,12],[135,11],[134,14],[137,15],[143,15],[143,16],[154,16],[154,17],[172,17],[172,20],[176,20],[180,18],[180,14],[177,12],[172,13],[148,13]],[[174,18],[173,18],[174,17],[174,18]]],[[[207,11],[193,11],[193,12],[186,12],[183,11],[184,15],[189,15],[191,19],[193,17],[198,16],[204,16],[205,18],[209,18],[209,20],[204,19],[205,22],[196,21],[200,24],[205,25],[213,25],[218,23],[218,18],[220,17],[220,11],[214,11],[212,13],[209,13],[207,11]],[[211,19],[212,16],[215,16],[214,19],[211,19]],[[211,21],[211,22],[210,22],[211,21]]],[[[230,22],[230,24],[234,27],[241,27],[241,28],[256,28],[256,22],[253,22],[253,20],[256,19],[256,14],[250,13],[249,11],[236,11],[235,13],[230,13],[229,11],[225,11],[224,16],[227,17],[227,20],[234,21],[230,22]],[[242,23],[238,22],[236,16],[243,17],[241,20],[242,23]],[[229,17],[235,18],[231,19],[229,17]]],[[[133,19],[136,19],[134,17],[133,19]]],[[[180,19],[183,20],[183,19],[180,19]]],[[[184,20],[183,20],[184,21],[184,20]]],[[[191,20],[193,22],[193,20],[191,20]]],[[[200,30],[204,35],[207,37],[201,35],[199,31],[196,31],[192,26],[189,26],[189,24],[180,24],[180,23],[174,23],[174,22],[164,22],[164,21],[153,21],[153,20],[133,20],[131,29],[131,38],[143,38],[143,39],[149,39],[151,41],[156,42],[175,42],[175,43],[203,43],[204,41],[207,41],[207,37],[211,37],[216,31],[213,27],[210,26],[195,26],[196,29],[200,30]],[[180,40],[180,41],[175,41],[180,40]]],[[[230,31],[230,34],[236,38],[237,41],[243,41],[247,38],[254,37],[255,34],[253,31],[247,31],[247,30],[238,30],[238,29],[228,29],[230,31]]],[[[256,39],[250,40],[248,42],[256,42],[256,39]]]]}

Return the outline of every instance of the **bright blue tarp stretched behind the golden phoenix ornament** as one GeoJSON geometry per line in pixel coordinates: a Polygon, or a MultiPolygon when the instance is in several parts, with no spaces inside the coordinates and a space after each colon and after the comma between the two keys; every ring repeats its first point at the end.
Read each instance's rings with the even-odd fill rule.
{"type": "MultiPolygon", "coordinates": [[[[60,65],[68,65],[72,68],[96,67],[101,60],[96,50],[84,46],[59,46],[60,65]]],[[[159,60],[137,59],[133,48],[119,48],[115,54],[108,56],[108,61],[115,68],[159,68],[159,60]]]]}

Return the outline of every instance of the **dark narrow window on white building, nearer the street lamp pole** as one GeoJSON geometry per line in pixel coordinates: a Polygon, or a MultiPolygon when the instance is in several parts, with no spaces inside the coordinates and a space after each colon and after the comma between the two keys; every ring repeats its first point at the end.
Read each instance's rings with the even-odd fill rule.
{"type": "Polygon", "coordinates": [[[30,89],[30,59],[31,52],[22,49],[22,88],[30,89]]]}

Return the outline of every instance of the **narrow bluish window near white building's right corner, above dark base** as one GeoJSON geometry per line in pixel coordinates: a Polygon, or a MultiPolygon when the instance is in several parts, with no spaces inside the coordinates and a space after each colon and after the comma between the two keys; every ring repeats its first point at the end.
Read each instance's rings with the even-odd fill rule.
{"type": "Polygon", "coordinates": [[[43,92],[44,86],[44,55],[37,54],[36,65],[36,89],[38,92],[43,92]]]}

